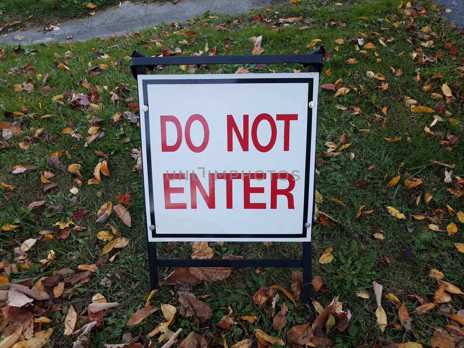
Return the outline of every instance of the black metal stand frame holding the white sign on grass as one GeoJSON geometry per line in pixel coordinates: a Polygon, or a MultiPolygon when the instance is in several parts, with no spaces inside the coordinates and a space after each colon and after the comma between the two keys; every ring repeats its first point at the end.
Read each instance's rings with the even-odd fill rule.
{"type": "MultiPolygon", "coordinates": [[[[134,51],[130,61],[130,70],[137,79],[146,75],[146,69],[153,70],[159,65],[180,64],[283,64],[300,63],[309,67],[309,72],[321,72],[325,50],[319,47],[310,54],[300,55],[259,55],[259,56],[190,56],[190,57],[147,57],[134,51]]],[[[315,101],[317,102],[317,101],[315,101]]],[[[159,287],[158,267],[291,267],[303,268],[303,302],[311,297],[311,242],[301,242],[301,259],[158,259],[156,242],[148,242],[148,267],[150,288],[159,287]]]]}

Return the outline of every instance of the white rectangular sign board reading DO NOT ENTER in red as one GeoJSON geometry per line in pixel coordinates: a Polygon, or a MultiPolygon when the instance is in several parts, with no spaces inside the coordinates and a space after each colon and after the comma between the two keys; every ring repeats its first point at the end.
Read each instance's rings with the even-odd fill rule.
{"type": "Polygon", "coordinates": [[[310,241],[318,77],[139,75],[148,241],[310,241]]]}

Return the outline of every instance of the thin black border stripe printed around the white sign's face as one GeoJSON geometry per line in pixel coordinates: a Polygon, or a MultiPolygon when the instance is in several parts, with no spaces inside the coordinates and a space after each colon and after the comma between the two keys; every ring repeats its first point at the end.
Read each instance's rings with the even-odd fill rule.
{"type": "MultiPolygon", "coordinates": [[[[308,112],[307,112],[307,133],[306,133],[306,156],[305,156],[305,183],[304,183],[304,202],[303,202],[303,220],[302,220],[302,233],[290,233],[285,234],[284,236],[279,236],[276,234],[255,234],[252,232],[249,233],[236,233],[236,234],[198,234],[198,233],[187,233],[187,234],[178,234],[178,233],[169,233],[169,234],[156,234],[156,227],[152,232],[152,238],[252,238],[257,241],[263,240],[278,240],[278,238],[293,238],[293,239],[304,239],[307,236],[308,229],[304,227],[304,224],[308,221],[308,210],[309,210],[309,180],[310,180],[310,169],[311,161],[314,161],[311,154],[311,133],[312,133],[312,118],[313,112],[312,108],[309,107],[309,102],[313,101],[313,77],[295,77],[295,78],[273,78],[273,77],[252,77],[252,78],[215,78],[215,79],[145,79],[142,80],[142,92],[143,100],[146,105],[148,105],[148,85],[149,84],[272,84],[272,83],[304,83],[308,84],[308,112]]],[[[156,226],[155,223],[155,204],[154,204],[154,190],[153,190],[153,176],[152,171],[152,158],[151,158],[151,142],[150,142],[150,110],[144,112],[144,127],[145,127],[145,141],[146,141],[146,151],[147,151],[147,165],[148,165],[148,193],[149,193],[149,207],[150,207],[150,222],[151,225],[156,226]]],[[[142,118],[141,118],[142,119],[142,118]]],[[[313,185],[314,186],[314,185],[313,185]]],[[[313,192],[313,202],[314,202],[314,192],[313,192]]],[[[314,216],[314,206],[312,207],[314,216]]],[[[181,222],[180,222],[181,224],[181,222]]],[[[310,229],[309,229],[310,230],[310,229]]]]}

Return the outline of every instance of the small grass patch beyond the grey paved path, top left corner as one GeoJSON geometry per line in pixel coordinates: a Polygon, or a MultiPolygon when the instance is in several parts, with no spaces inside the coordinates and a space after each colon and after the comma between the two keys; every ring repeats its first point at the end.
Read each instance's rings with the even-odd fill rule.
{"type": "MultiPolygon", "coordinates": [[[[148,0],[146,2],[155,2],[148,0]]],[[[119,5],[119,0],[2,0],[0,3],[0,24],[8,25],[21,20],[13,26],[14,29],[22,26],[56,24],[62,20],[88,16],[94,11],[101,11],[109,6],[119,5]],[[97,5],[96,8],[88,8],[88,3],[97,5]],[[31,18],[29,18],[32,16],[31,18]]]]}

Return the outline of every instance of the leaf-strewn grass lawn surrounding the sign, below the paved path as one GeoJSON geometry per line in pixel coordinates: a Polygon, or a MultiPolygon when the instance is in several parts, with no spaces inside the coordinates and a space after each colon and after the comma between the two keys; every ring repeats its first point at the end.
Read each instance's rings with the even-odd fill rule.
{"type": "MultiPolygon", "coordinates": [[[[2,5],[10,4],[9,1],[2,2],[2,5]]],[[[340,225],[331,225],[323,218],[320,219],[324,224],[314,225],[313,275],[322,277],[322,288],[327,290],[315,292],[313,298],[325,307],[334,296],[339,295],[343,309],[351,312],[347,329],[335,329],[329,333],[331,345],[367,346],[383,337],[397,344],[419,342],[423,347],[431,347],[430,339],[436,329],[444,329],[448,324],[462,327],[462,317],[450,316],[459,310],[462,314],[464,298],[451,285],[445,285],[445,293],[450,293],[449,301],[445,301],[448,298],[443,295],[444,303],[425,314],[419,314],[416,308],[420,303],[406,295],[417,295],[426,303],[432,303],[438,283],[429,277],[431,269],[443,272],[443,280],[464,289],[464,254],[458,250],[460,245],[455,245],[464,241],[464,217],[458,214],[459,210],[464,210],[464,184],[459,182],[459,176],[464,177],[464,149],[462,139],[459,139],[463,135],[464,122],[463,39],[458,30],[453,30],[450,23],[439,16],[431,3],[408,4],[411,6],[409,9],[403,3],[400,10],[397,8],[399,5],[400,1],[360,0],[347,1],[341,6],[328,2],[327,6],[322,6],[319,1],[303,0],[296,2],[296,6],[284,4],[267,12],[263,9],[219,18],[209,14],[204,19],[194,19],[192,24],[180,23],[180,27],[157,25],[131,38],[30,45],[21,47],[21,50],[3,46],[0,50],[0,181],[6,187],[0,187],[0,226],[18,227],[10,230],[6,227],[0,231],[0,259],[3,259],[3,263],[0,262],[0,284],[9,281],[31,287],[42,277],[54,277],[64,268],[75,271],[71,275],[74,276],[80,272],[79,265],[97,265],[97,270],[91,273],[87,282],[70,283],[64,278],[63,293],[56,298],[52,287],[42,285],[42,290],[52,293],[51,299],[34,300],[24,308],[30,309],[36,318],[45,316],[51,322],[36,323],[33,330],[38,332],[52,328],[54,347],[71,346],[76,336],[64,335],[64,320],[72,305],[80,315],[76,329],[89,320],[99,319],[97,327],[88,334],[91,345],[86,342],[88,344],[82,347],[120,343],[127,332],[133,337],[138,336],[141,346],[148,347],[145,336],[166,321],[161,310],[135,326],[127,325],[135,311],[144,306],[150,292],[142,175],[132,171],[136,160],[131,156],[132,149],[140,148],[140,133],[137,124],[124,116],[114,122],[116,113],[134,111],[130,109],[134,106],[125,103],[115,105],[110,91],[115,91],[121,99],[132,97],[134,101],[129,100],[128,103],[136,103],[135,80],[130,74],[128,59],[134,49],[155,55],[162,49],[168,54],[167,50],[180,48],[181,55],[192,55],[203,51],[207,42],[209,49],[216,47],[219,55],[248,54],[253,47],[249,38],[259,35],[263,36],[263,54],[307,53],[318,45],[323,45],[329,52],[320,84],[333,84],[335,90],[319,90],[316,157],[319,158],[320,174],[316,177],[316,189],[323,200],[317,206],[321,213],[339,220],[340,225]],[[253,17],[256,13],[271,21],[275,18],[301,19],[290,19],[274,28],[270,26],[271,22],[255,23],[253,17]],[[222,23],[226,24],[217,27],[222,23]],[[298,30],[302,26],[312,28],[298,30]],[[186,37],[179,32],[184,27],[185,31],[197,34],[186,37]],[[224,30],[220,30],[221,27],[224,30]],[[26,66],[29,63],[35,69],[26,66]],[[69,67],[72,73],[58,65],[60,63],[69,67]],[[90,76],[87,73],[89,66],[98,64],[105,64],[101,65],[100,74],[90,76]],[[45,76],[48,78],[43,83],[45,76]],[[83,83],[84,80],[87,83],[83,83]],[[124,91],[124,86],[129,90],[124,91]],[[90,87],[99,94],[97,97],[93,92],[95,100],[90,101],[93,104],[91,108],[76,108],[68,102],[70,97],[66,90],[85,94],[91,92],[90,87]],[[40,93],[42,88],[50,88],[51,93],[40,93]],[[92,118],[93,121],[88,122],[92,118]],[[100,129],[89,129],[96,124],[100,129]],[[90,134],[103,132],[103,137],[84,146],[90,134]],[[326,142],[340,146],[339,139],[343,134],[348,135],[351,145],[335,150],[341,152],[338,156],[324,155],[322,151],[328,151],[326,142]],[[63,152],[58,161],[65,166],[64,170],[56,168],[56,162],[53,165],[53,158],[56,160],[57,156],[52,154],[60,150],[63,152]],[[97,153],[99,151],[108,156],[102,157],[97,153]],[[47,155],[52,156],[48,162],[47,155]],[[102,175],[101,182],[88,185],[88,180],[94,177],[92,171],[102,158],[107,161],[110,177],[102,175]],[[430,161],[432,159],[455,167],[451,169],[434,164],[430,161]],[[77,175],[66,170],[74,163],[80,165],[82,186],[75,182],[77,175]],[[18,165],[26,171],[13,174],[13,167],[18,165]],[[445,169],[452,170],[452,182],[445,183],[445,169]],[[44,185],[47,184],[41,181],[40,173],[45,174],[45,171],[55,174],[49,180],[58,185],[44,193],[44,185]],[[397,176],[400,176],[395,180],[398,181],[389,187],[389,181],[397,176]],[[413,178],[422,182],[407,188],[409,181],[405,185],[405,180],[413,178]],[[129,200],[134,202],[126,205],[132,227],[125,226],[115,211],[110,214],[106,223],[129,240],[128,245],[117,249],[120,253],[110,262],[116,249],[102,258],[103,246],[109,242],[97,237],[98,232],[110,231],[110,227],[95,221],[103,204],[112,202],[113,207],[118,204],[118,193],[130,193],[129,200]],[[76,198],[73,199],[73,196],[76,198]],[[31,202],[42,200],[45,200],[43,205],[27,209],[31,202]],[[336,200],[342,201],[345,206],[336,200]],[[399,219],[400,215],[392,216],[387,206],[398,209],[405,219],[399,219]],[[77,219],[80,217],[77,216],[79,210],[88,212],[77,219]],[[362,213],[355,218],[358,210],[362,213]],[[59,230],[59,226],[54,226],[68,220],[72,222],[70,227],[85,229],[79,231],[65,227],[59,230]],[[449,226],[451,223],[457,226],[457,233],[453,233],[453,226],[449,226]],[[375,235],[378,237],[375,238],[374,233],[381,235],[375,235]],[[25,240],[41,235],[42,238],[24,254],[19,249],[15,251],[25,240]],[[329,247],[334,249],[334,258],[323,264],[319,262],[320,253],[329,247]],[[55,258],[50,255],[50,250],[54,251],[55,258]],[[50,257],[49,261],[47,257],[50,257]],[[39,260],[45,261],[42,264],[39,260]],[[16,266],[9,266],[9,263],[16,266]],[[373,281],[383,285],[381,305],[389,323],[383,332],[375,316],[378,304],[373,281]],[[357,296],[359,290],[365,290],[370,297],[357,296]],[[107,309],[105,313],[99,312],[97,318],[95,315],[93,319],[89,318],[86,308],[96,293],[102,294],[108,302],[121,305],[107,309]],[[389,293],[397,296],[399,304],[406,303],[412,326],[408,331],[400,324],[397,305],[385,297],[389,293]]],[[[2,8],[8,7],[4,5],[2,8]]],[[[261,67],[251,64],[212,65],[195,73],[209,73],[210,69],[233,73],[240,67],[252,73],[304,71],[303,66],[298,64],[267,64],[261,67]]],[[[187,69],[184,71],[182,68],[187,67],[166,66],[153,73],[187,74],[187,69]]],[[[188,100],[179,102],[188,103],[188,100]]],[[[271,102],[271,96],[269,100],[257,101],[271,102]]],[[[219,258],[224,254],[245,258],[297,258],[302,250],[301,245],[291,243],[273,243],[270,246],[263,243],[225,243],[222,246],[210,243],[209,246],[214,257],[219,258]]],[[[162,258],[189,257],[192,247],[190,243],[177,243],[174,250],[167,251],[167,244],[159,243],[158,252],[162,258]]],[[[166,277],[171,271],[160,269],[160,276],[166,277]]],[[[210,331],[219,337],[218,347],[225,347],[223,336],[228,347],[245,339],[251,339],[253,347],[258,347],[253,330],[261,329],[283,339],[285,346],[289,347],[288,330],[297,324],[313,323],[317,316],[315,307],[312,304],[295,307],[280,292],[276,313],[285,302],[289,308],[285,315],[287,324],[274,330],[271,303],[260,308],[252,296],[261,287],[273,284],[291,291],[291,271],[298,270],[264,269],[256,272],[254,269],[234,269],[224,280],[205,281],[193,286],[195,295],[209,295],[201,301],[213,309],[212,317],[200,324],[180,315],[179,299],[175,296],[177,287],[175,290],[171,285],[161,287],[152,297],[151,304],[171,304],[177,308],[178,313],[169,329],[175,332],[183,328],[179,337],[190,332],[203,335],[210,331]],[[235,318],[250,315],[258,316],[258,319],[253,323],[241,320],[240,324],[232,324],[230,331],[221,329],[216,324],[229,314],[229,308],[235,318]]],[[[0,289],[7,288],[5,284],[0,285],[0,289]]],[[[1,294],[0,308],[3,308],[7,300],[2,299],[1,294]]],[[[16,324],[19,325],[18,322],[16,324]]],[[[16,328],[0,315],[0,329],[5,327],[9,334],[16,328]]],[[[328,327],[330,329],[330,325],[328,327]]],[[[318,330],[319,336],[325,335],[325,329],[318,330]]],[[[452,329],[448,330],[451,333],[452,329]]],[[[4,332],[5,336],[9,334],[4,332]]],[[[27,337],[31,335],[31,331],[27,333],[27,337]]],[[[46,347],[52,347],[50,342],[46,347]]],[[[155,347],[161,347],[163,343],[153,339],[155,347]]],[[[389,341],[378,341],[381,347],[388,344],[389,341]]],[[[272,344],[259,347],[272,347],[272,344]]],[[[300,346],[292,343],[292,347],[300,346]]]]}

